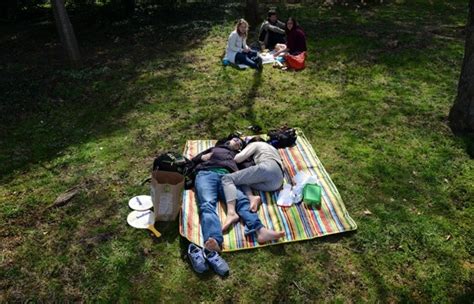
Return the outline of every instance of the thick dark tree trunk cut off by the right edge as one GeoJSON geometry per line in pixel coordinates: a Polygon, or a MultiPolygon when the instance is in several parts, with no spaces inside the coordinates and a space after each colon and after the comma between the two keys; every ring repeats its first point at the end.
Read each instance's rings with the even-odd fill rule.
{"type": "Polygon", "coordinates": [[[474,0],[469,1],[464,60],[449,126],[454,133],[474,133],[474,0]]]}

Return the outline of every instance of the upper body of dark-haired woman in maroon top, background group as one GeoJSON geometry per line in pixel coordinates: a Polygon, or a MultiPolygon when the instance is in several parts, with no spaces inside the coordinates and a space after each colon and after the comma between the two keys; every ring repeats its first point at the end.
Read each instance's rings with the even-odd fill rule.
{"type": "Polygon", "coordinates": [[[306,51],[306,35],[295,18],[290,17],[286,21],[286,44],[277,44],[275,50],[274,57],[288,53],[290,55],[298,55],[306,51]]]}

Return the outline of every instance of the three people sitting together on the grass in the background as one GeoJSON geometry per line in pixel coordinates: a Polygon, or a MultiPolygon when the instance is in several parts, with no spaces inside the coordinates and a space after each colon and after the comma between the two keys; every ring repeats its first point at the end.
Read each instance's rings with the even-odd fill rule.
{"type": "MultiPolygon", "coordinates": [[[[248,29],[247,21],[238,20],[235,30],[229,35],[225,58],[231,63],[261,70],[263,65],[258,49],[251,49],[247,45],[248,29]]],[[[289,17],[284,23],[278,20],[274,10],[268,12],[267,20],[260,26],[258,40],[260,49],[273,51],[274,57],[298,55],[306,51],[306,35],[295,18],[289,17]]]]}

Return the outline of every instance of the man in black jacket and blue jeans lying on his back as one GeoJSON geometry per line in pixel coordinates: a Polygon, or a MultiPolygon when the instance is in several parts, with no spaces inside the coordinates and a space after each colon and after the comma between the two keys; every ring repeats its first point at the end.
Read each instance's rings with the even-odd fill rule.
{"type": "MultiPolygon", "coordinates": [[[[194,188],[205,240],[204,247],[211,251],[220,251],[223,242],[221,222],[216,212],[218,200],[225,201],[221,178],[226,173],[238,170],[234,157],[242,145],[243,142],[239,137],[233,137],[224,143],[218,142],[215,147],[193,158],[197,172],[194,188]]],[[[260,244],[277,240],[285,235],[283,231],[274,231],[263,226],[258,215],[250,211],[250,201],[240,189],[237,191],[235,207],[247,226],[247,234],[256,233],[260,244]]]]}

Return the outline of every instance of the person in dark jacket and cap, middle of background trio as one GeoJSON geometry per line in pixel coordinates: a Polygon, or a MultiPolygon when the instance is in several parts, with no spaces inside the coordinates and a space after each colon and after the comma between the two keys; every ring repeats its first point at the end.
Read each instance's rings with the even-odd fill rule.
{"type": "Polygon", "coordinates": [[[285,23],[278,20],[274,10],[269,10],[267,16],[260,26],[258,41],[262,48],[273,50],[276,44],[285,43],[285,23]]]}

